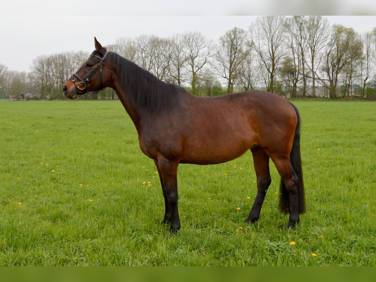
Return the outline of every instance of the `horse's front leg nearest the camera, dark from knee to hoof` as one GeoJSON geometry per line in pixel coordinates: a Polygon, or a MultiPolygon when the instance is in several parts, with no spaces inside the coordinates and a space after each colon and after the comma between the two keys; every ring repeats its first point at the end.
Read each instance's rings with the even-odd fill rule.
{"type": "Polygon", "coordinates": [[[160,156],[158,158],[158,165],[161,182],[164,184],[162,184],[162,189],[164,186],[165,199],[167,199],[166,213],[170,212],[170,233],[176,233],[180,229],[179,213],[177,211],[177,166],[179,162],[170,161],[160,156]]]}

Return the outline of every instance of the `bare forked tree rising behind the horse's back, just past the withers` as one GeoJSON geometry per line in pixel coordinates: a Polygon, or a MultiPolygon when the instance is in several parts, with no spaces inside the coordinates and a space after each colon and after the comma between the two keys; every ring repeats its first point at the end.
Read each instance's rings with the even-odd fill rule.
{"type": "Polygon", "coordinates": [[[201,71],[214,55],[214,42],[200,32],[184,33],[183,38],[186,46],[185,54],[188,57],[187,68],[190,71],[192,92],[198,94],[201,71]]]}

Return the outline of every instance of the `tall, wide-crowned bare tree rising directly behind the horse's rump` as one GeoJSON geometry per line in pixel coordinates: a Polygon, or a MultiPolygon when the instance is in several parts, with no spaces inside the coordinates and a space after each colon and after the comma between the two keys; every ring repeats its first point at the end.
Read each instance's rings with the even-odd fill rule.
{"type": "Polygon", "coordinates": [[[286,54],[284,44],[285,17],[258,17],[250,27],[253,46],[260,59],[261,75],[267,91],[274,92],[274,83],[279,71],[279,64],[286,54]]]}

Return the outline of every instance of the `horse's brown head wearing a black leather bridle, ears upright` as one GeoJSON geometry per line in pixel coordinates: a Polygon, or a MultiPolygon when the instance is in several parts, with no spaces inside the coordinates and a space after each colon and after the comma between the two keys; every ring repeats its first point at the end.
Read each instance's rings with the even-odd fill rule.
{"type": "Polygon", "coordinates": [[[76,99],[78,95],[103,89],[109,77],[109,69],[106,68],[106,56],[108,50],[102,47],[94,37],[95,49],[86,62],[72,74],[64,86],[64,96],[76,99]]]}

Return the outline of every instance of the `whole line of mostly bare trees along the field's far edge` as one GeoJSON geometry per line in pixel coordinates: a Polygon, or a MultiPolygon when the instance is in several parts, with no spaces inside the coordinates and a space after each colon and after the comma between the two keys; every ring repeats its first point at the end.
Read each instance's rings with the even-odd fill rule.
{"type": "MultiPolygon", "coordinates": [[[[197,31],[121,37],[109,50],[200,96],[264,89],[284,97],[376,96],[376,27],[359,34],[322,16],[262,16],[217,41],[197,31]]],[[[0,64],[0,97],[62,99],[62,85],[88,52],[38,56],[30,72],[0,64]]],[[[116,99],[112,89],[82,99],[116,99]]]]}

